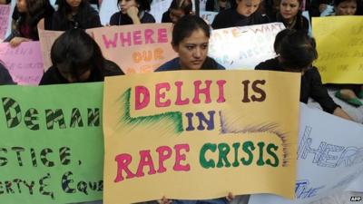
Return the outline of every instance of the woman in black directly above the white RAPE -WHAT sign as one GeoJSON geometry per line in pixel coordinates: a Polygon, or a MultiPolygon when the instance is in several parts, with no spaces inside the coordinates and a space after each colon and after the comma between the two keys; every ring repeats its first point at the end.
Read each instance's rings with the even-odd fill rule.
{"type": "Polygon", "coordinates": [[[226,9],[215,16],[211,24],[213,29],[270,22],[267,15],[261,15],[258,11],[261,0],[236,0],[236,2],[237,8],[226,9]]]}

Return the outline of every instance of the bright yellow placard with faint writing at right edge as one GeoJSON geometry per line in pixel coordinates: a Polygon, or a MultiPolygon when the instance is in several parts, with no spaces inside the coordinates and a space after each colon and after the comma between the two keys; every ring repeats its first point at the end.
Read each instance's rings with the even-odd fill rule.
{"type": "Polygon", "coordinates": [[[363,16],[313,17],[323,83],[363,83],[363,16]]]}

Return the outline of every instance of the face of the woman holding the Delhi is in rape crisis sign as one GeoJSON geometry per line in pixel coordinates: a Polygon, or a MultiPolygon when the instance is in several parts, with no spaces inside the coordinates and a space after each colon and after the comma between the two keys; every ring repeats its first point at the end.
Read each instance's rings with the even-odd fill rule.
{"type": "Polygon", "coordinates": [[[203,30],[198,29],[185,37],[182,42],[172,45],[179,54],[182,69],[199,70],[207,58],[209,38],[203,30]]]}

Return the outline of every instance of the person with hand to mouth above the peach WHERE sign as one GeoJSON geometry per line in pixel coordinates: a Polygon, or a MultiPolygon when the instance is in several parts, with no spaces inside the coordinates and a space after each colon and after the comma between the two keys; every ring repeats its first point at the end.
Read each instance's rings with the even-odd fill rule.
{"type": "Polygon", "coordinates": [[[111,16],[110,25],[155,23],[149,0],[118,0],[117,6],[120,11],[111,16]]]}

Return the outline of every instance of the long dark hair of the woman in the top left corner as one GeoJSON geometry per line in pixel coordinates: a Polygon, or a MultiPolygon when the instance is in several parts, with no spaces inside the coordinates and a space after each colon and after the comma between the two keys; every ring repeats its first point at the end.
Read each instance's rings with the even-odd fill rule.
{"type": "MultiPolygon", "coordinates": [[[[19,32],[20,26],[27,24],[30,27],[30,37],[38,40],[37,24],[42,18],[51,18],[54,8],[49,0],[25,0],[27,13],[19,13],[20,17],[16,20],[16,30],[19,32]]],[[[16,34],[18,35],[18,34],[16,34]]]]}

